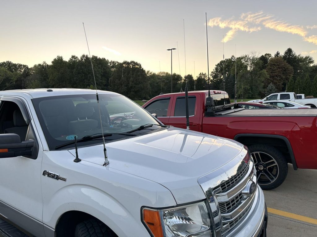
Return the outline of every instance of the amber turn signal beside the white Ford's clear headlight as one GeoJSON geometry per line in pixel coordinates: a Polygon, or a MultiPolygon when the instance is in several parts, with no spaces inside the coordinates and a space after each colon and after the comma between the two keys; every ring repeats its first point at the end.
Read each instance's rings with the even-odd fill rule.
{"type": "Polygon", "coordinates": [[[164,237],[159,211],[143,209],[143,221],[155,237],[164,237]]]}

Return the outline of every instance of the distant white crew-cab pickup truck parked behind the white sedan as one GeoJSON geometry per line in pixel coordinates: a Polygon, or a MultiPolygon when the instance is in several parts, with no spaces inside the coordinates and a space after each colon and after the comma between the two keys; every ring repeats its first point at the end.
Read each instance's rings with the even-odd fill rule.
{"type": "Polygon", "coordinates": [[[304,94],[297,95],[294,92],[281,92],[281,93],[273,93],[269,96],[265,97],[262,100],[249,100],[248,102],[264,102],[264,101],[271,101],[271,100],[289,100],[301,105],[310,105],[311,108],[317,108],[317,98],[305,99],[304,94]],[[300,99],[296,99],[300,98],[300,99]]]}

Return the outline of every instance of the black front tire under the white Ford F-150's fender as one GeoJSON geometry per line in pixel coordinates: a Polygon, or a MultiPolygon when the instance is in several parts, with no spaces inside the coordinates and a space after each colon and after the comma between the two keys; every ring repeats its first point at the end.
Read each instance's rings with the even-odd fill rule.
{"type": "Polygon", "coordinates": [[[97,219],[83,221],[76,226],[75,237],[114,237],[116,236],[104,223],[97,219]]]}

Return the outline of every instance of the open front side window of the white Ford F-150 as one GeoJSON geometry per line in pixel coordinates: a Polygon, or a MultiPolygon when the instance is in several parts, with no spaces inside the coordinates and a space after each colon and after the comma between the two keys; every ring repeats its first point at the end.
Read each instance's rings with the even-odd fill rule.
{"type": "Polygon", "coordinates": [[[20,108],[14,102],[4,101],[1,106],[1,133],[15,133],[25,141],[29,126],[26,124],[20,108]]]}

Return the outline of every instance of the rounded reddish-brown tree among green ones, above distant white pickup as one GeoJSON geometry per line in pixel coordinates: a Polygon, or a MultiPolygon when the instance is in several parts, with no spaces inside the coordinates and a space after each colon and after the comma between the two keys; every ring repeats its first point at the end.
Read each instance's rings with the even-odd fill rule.
{"type": "Polygon", "coordinates": [[[266,68],[269,78],[265,83],[272,83],[277,91],[284,91],[288,80],[293,76],[293,68],[281,57],[271,58],[266,68]]]}

